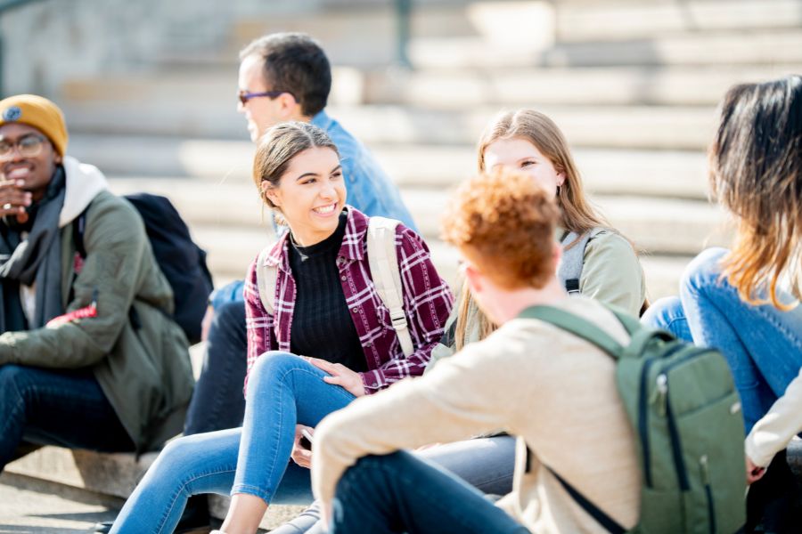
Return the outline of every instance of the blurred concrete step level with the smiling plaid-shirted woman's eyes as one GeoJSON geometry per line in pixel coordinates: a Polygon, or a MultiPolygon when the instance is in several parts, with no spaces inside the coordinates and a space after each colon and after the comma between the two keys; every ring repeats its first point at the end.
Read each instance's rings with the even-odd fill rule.
{"type": "MultiPolygon", "coordinates": [[[[402,189],[447,189],[476,173],[472,146],[372,145],[372,153],[402,189]]],[[[77,134],[70,153],[108,176],[125,177],[130,190],[218,191],[241,188],[243,206],[254,190],[254,145],[243,141],[77,134]],[[168,178],[168,177],[175,178],[168,178]],[[187,180],[192,177],[197,183],[187,180]]],[[[707,198],[707,161],[701,152],[577,149],[585,187],[597,194],[707,198]]]]}

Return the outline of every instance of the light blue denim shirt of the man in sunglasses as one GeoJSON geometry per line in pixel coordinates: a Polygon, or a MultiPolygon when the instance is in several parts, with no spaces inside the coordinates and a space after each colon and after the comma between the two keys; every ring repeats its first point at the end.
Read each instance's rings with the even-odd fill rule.
{"type": "MultiPolygon", "coordinates": [[[[329,117],[325,110],[312,117],[312,124],[329,134],[340,151],[342,174],[348,190],[346,202],[368,216],[381,215],[397,219],[417,232],[418,227],[413,223],[412,215],[406,209],[396,184],[364,145],[356,141],[339,122],[329,117]]],[[[215,290],[210,297],[212,307],[217,309],[221,304],[244,300],[242,287],[244,282],[237,280],[215,290]]]]}

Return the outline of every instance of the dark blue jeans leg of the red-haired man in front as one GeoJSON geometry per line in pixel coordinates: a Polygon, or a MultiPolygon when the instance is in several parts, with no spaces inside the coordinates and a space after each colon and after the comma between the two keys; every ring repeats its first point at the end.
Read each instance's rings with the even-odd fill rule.
{"type": "Polygon", "coordinates": [[[478,490],[404,451],[364,457],[337,485],[331,534],[527,533],[478,490]]]}

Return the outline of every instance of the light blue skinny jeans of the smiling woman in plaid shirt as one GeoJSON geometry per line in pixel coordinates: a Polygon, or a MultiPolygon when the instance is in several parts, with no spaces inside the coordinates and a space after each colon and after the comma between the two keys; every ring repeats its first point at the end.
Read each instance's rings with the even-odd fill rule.
{"type": "Polygon", "coordinates": [[[293,354],[263,354],[250,372],[242,427],[169,443],[111,532],[172,532],[187,498],[199,493],[246,493],[268,504],[311,502],[309,472],[290,460],[295,425],[316,426],[354,400],[323,376],[293,354]]]}

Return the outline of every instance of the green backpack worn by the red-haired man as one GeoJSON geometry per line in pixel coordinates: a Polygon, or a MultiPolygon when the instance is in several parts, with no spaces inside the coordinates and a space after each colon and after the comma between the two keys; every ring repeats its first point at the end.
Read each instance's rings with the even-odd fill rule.
{"type": "MultiPolygon", "coordinates": [[[[519,317],[551,323],[617,360],[618,394],[642,466],[640,520],[630,532],[732,534],[746,521],[746,472],[741,402],[726,360],[716,350],[610,311],[631,336],[626,347],[593,323],[550,306],[533,306],[519,317]]],[[[607,530],[626,532],[552,473],[607,530]]]]}

